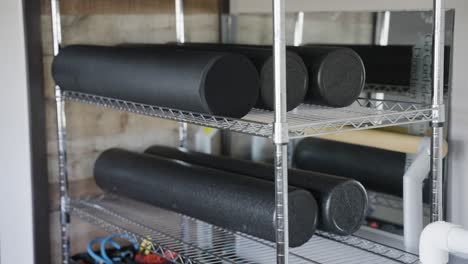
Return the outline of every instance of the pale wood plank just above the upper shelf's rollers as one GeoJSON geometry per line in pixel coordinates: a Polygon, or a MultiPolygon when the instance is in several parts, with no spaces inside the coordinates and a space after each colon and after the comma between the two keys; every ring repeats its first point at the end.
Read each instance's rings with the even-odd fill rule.
{"type": "MultiPolygon", "coordinates": [[[[176,40],[173,14],[66,15],[62,16],[61,22],[63,45],[165,43],[176,40]]],[[[216,14],[187,14],[185,26],[188,42],[216,42],[218,39],[216,14]]],[[[50,16],[42,16],[41,27],[43,54],[52,55],[50,16]]],[[[46,77],[50,77],[47,72],[46,77]]]]}

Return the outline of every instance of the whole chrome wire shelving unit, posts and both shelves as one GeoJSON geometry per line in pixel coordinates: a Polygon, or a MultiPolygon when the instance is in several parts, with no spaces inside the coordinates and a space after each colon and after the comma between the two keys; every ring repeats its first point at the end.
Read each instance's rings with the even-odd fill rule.
{"type": "MultiPolygon", "coordinates": [[[[176,1],[177,40],[184,42],[183,5],[176,1]]],[[[235,1],[235,0],[234,0],[235,1]]],[[[242,119],[209,116],[176,109],[128,102],[117,98],[64,91],[55,86],[60,184],[62,263],[70,263],[70,214],[73,213],[112,233],[126,233],[153,242],[152,251],[173,263],[418,263],[415,255],[363,238],[338,237],[324,232],[304,246],[290,249],[288,243],[287,146],[290,139],[349,130],[432,122],[431,221],[443,220],[442,146],[444,126],[443,58],[444,0],[434,2],[433,100],[431,105],[360,99],[346,108],[302,105],[286,112],[285,6],[273,0],[273,56],[275,76],[274,112],[253,110],[242,119]],[[145,205],[123,198],[71,200],[68,191],[66,146],[66,101],[90,103],[137,114],[171,119],[180,123],[184,145],[187,123],[271,138],[275,145],[276,243],[200,222],[166,210],[138,210],[145,205]],[[119,200],[120,199],[120,200],[119,200]],[[151,214],[148,212],[151,211],[151,214]],[[174,254],[176,257],[174,258],[174,254]]],[[[51,0],[53,50],[60,51],[59,0],[51,0]]]]}

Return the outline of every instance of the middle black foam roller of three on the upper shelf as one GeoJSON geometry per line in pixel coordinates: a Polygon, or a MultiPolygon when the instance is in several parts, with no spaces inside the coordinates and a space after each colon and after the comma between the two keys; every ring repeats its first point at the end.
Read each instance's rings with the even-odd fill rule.
{"type": "MultiPolygon", "coordinates": [[[[273,53],[270,47],[217,43],[149,44],[144,46],[155,49],[217,51],[244,55],[252,61],[260,76],[260,94],[255,107],[274,110],[273,53]]],[[[286,76],[286,103],[287,111],[290,111],[304,102],[309,79],[304,62],[291,51],[286,53],[286,76]]]]}

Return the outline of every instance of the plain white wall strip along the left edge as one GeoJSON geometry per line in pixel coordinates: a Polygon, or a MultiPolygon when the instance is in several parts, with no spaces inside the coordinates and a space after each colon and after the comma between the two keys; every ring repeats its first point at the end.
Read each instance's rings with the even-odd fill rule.
{"type": "Polygon", "coordinates": [[[0,240],[2,263],[34,263],[23,1],[0,1],[0,240]]]}

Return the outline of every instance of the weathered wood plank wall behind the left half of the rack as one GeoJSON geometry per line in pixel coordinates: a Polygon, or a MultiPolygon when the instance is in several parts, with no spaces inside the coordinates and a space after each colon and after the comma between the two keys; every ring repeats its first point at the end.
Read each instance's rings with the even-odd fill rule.
{"type": "MultiPolygon", "coordinates": [[[[60,262],[56,113],[51,78],[52,34],[49,1],[41,0],[46,130],[50,184],[51,263],[60,262]]],[[[218,0],[185,0],[187,41],[216,42],[218,0]]],[[[163,43],[176,40],[173,0],[61,0],[63,45],[163,43]]],[[[68,172],[72,197],[99,194],[93,164],[111,147],[142,151],[153,144],[176,146],[176,122],[77,103],[67,103],[68,172]]],[[[72,252],[105,233],[72,218],[72,252]]]]}

